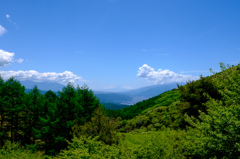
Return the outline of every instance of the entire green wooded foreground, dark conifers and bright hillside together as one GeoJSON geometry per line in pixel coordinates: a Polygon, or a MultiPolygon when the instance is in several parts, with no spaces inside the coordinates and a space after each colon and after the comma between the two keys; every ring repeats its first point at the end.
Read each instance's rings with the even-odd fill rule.
{"type": "Polygon", "coordinates": [[[0,158],[239,158],[240,65],[121,110],[0,80],[0,158]],[[16,143],[18,142],[18,143],[16,143]]]}

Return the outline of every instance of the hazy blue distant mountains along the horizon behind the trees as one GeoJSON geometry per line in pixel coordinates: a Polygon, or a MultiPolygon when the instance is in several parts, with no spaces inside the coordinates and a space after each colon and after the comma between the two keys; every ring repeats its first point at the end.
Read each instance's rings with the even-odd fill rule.
{"type": "MultiPolygon", "coordinates": [[[[48,90],[52,90],[53,92],[61,91],[64,87],[64,85],[54,82],[33,82],[28,80],[20,81],[20,83],[25,86],[26,92],[30,91],[35,85],[37,85],[41,93],[45,93],[48,90]]],[[[185,83],[179,84],[183,85],[185,83]]],[[[124,105],[125,107],[126,105],[133,105],[174,88],[177,88],[176,83],[153,85],[124,92],[103,92],[94,90],[93,92],[100,102],[108,107],[111,106],[111,104],[119,105],[120,107],[124,105]]]]}

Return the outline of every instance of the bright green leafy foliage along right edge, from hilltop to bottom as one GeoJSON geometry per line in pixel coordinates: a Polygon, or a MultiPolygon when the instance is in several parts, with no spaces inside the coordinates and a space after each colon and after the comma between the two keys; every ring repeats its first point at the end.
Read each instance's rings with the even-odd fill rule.
{"type": "Polygon", "coordinates": [[[222,72],[213,78],[222,100],[210,99],[206,103],[207,113],[200,112],[200,121],[187,116],[194,126],[199,140],[196,154],[203,158],[239,158],[240,155],[240,100],[239,65],[227,67],[221,64],[222,72]]]}

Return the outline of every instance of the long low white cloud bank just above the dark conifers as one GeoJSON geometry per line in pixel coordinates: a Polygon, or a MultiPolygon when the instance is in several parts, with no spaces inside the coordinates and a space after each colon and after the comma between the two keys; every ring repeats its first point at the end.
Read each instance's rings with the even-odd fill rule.
{"type": "Polygon", "coordinates": [[[34,82],[57,82],[60,84],[67,84],[68,82],[76,84],[77,82],[84,81],[82,77],[77,76],[70,71],[65,71],[63,73],[56,72],[39,73],[35,70],[0,71],[0,75],[5,80],[9,79],[10,77],[14,77],[20,81],[31,80],[34,82]]]}

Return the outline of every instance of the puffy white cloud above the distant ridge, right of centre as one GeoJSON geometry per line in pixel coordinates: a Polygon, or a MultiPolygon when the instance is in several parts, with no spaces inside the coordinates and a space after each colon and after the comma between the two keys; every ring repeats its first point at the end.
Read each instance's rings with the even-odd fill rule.
{"type": "Polygon", "coordinates": [[[170,70],[158,69],[157,71],[154,68],[144,64],[138,70],[138,77],[147,79],[154,82],[154,84],[166,84],[174,82],[186,82],[188,80],[197,80],[198,77],[192,75],[182,75],[174,73],[170,70]]]}

